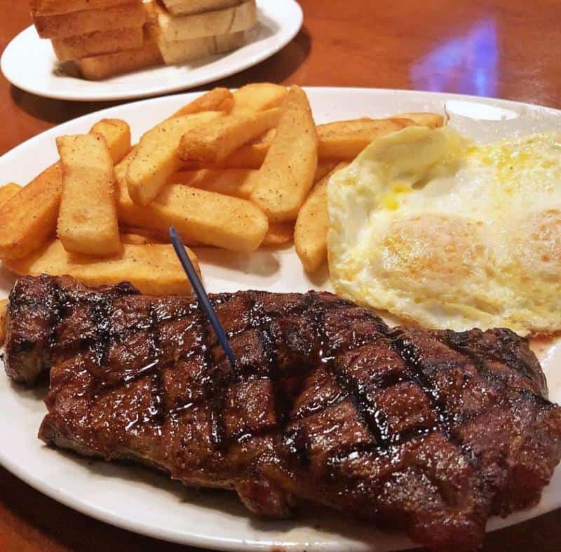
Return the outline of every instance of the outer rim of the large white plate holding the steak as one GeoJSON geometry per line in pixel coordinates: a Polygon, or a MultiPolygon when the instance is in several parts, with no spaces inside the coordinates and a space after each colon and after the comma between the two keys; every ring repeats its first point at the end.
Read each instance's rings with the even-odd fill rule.
{"type": "MultiPolygon", "coordinates": [[[[304,87],[305,90],[309,91],[317,91],[318,93],[345,93],[345,94],[353,94],[353,93],[364,93],[364,94],[372,94],[377,93],[381,95],[429,95],[434,98],[442,97],[447,99],[464,99],[464,100],[473,100],[477,102],[484,102],[484,103],[492,103],[492,102],[499,102],[501,105],[511,105],[512,107],[530,107],[531,109],[544,109],[546,112],[550,112],[550,114],[554,116],[560,116],[561,110],[529,104],[526,102],[516,102],[513,100],[501,100],[500,98],[489,98],[489,97],[478,97],[473,95],[461,95],[461,94],[454,94],[454,93],[442,93],[442,92],[431,92],[431,91],[421,91],[421,90],[400,90],[400,89],[391,89],[391,88],[356,88],[356,87],[329,87],[329,86],[318,86],[318,87],[304,87]]],[[[121,109],[130,109],[131,111],[138,107],[140,104],[157,104],[157,103],[168,103],[180,100],[189,100],[191,98],[197,97],[204,92],[199,91],[191,91],[181,94],[175,95],[168,95],[164,97],[152,97],[146,98],[144,100],[138,100],[135,102],[130,102],[124,105],[117,105],[112,107],[104,107],[102,109],[98,109],[95,112],[91,112],[88,114],[84,114],[82,116],[76,117],[74,119],[70,119],[69,121],[65,121],[64,123],[60,123],[57,126],[53,126],[52,128],[43,131],[42,133],[29,138],[25,142],[18,144],[18,146],[14,147],[10,151],[6,152],[0,159],[0,168],[7,168],[8,164],[11,163],[11,158],[20,152],[20,149],[27,149],[28,147],[33,147],[34,142],[39,142],[44,140],[48,135],[55,135],[59,133],[61,130],[64,131],[64,128],[67,126],[73,126],[75,124],[79,124],[84,120],[92,120],[95,119],[96,116],[104,116],[106,114],[115,114],[119,112],[121,109]]],[[[126,518],[121,516],[119,513],[114,511],[110,511],[108,509],[104,509],[102,506],[98,504],[90,503],[88,497],[82,497],[78,501],[76,501],[76,497],[73,494],[69,494],[63,490],[58,490],[53,485],[50,485],[45,480],[42,480],[38,476],[34,476],[32,471],[28,471],[26,469],[20,469],[20,466],[17,464],[15,460],[12,460],[4,450],[0,450],[0,464],[4,466],[8,471],[13,473],[14,476],[20,478],[20,480],[24,481],[28,485],[32,486],[34,489],[38,490],[42,494],[45,494],[50,499],[54,499],[55,501],[60,502],[60,504],[64,504],[65,506],[83,513],[86,516],[91,518],[101,520],[104,523],[108,523],[109,525],[114,525],[116,527],[120,527],[125,530],[129,530],[131,532],[135,532],[137,534],[144,534],[149,537],[154,537],[156,539],[163,539],[166,541],[177,542],[181,544],[189,544],[191,546],[201,546],[205,548],[219,548],[222,550],[228,551],[239,551],[242,549],[261,549],[266,548],[269,549],[271,547],[271,543],[268,543],[263,540],[252,540],[252,539],[232,539],[232,538],[224,538],[219,537],[217,535],[210,537],[208,534],[200,534],[198,532],[191,532],[187,538],[184,533],[179,533],[177,530],[173,530],[170,528],[166,528],[165,532],[162,534],[161,528],[155,525],[147,525],[146,523],[139,523],[131,518],[126,518]],[[244,548],[248,547],[248,548],[244,548]]],[[[520,523],[520,521],[524,520],[524,513],[525,511],[518,512],[518,514],[522,515],[521,519],[518,519],[513,522],[520,523]]],[[[533,516],[532,516],[533,517],[533,516]]],[[[510,524],[509,524],[510,525],[510,524]]],[[[286,546],[287,548],[291,548],[290,544],[286,546]]],[[[330,546],[326,546],[327,549],[330,546]]],[[[296,549],[293,548],[293,549],[296,549]]]]}

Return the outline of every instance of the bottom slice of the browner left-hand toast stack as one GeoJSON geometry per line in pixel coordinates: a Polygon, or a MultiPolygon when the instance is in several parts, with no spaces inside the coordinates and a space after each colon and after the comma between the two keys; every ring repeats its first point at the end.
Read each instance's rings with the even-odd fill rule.
{"type": "Polygon", "coordinates": [[[141,48],[76,60],[76,65],[78,65],[83,78],[90,81],[106,79],[109,76],[153,67],[162,63],[158,43],[148,29],[144,30],[144,43],[141,48]]]}

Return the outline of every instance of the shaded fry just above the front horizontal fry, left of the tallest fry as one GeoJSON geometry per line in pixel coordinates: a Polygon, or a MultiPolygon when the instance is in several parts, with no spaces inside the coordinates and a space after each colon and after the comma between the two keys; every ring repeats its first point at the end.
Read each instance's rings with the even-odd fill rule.
{"type": "Polygon", "coordinates": [[[249,199],[259,178],[258,170],[201,169],[182,170],[170,177],[169,184],[187,184],[217,194],[249,199]]]}

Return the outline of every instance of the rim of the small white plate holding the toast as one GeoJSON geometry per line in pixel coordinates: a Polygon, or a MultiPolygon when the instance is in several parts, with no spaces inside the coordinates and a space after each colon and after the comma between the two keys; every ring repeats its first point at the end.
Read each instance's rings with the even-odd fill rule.
{"type": "MultiPolygon", "coordinates": [[[[245,71],[245,69],[249,69],[250,67],[254,67],[255,65],[259,65],[259,63],[271,58],[273,55],[283,50],[283,48],[285,48],[288,45],[288,43],[290,43],[292,39],[295,38],[295,36],[299,33],[300,29],[302,29],[302,25],[304,23],[304,12],[302,11],[302,6],[300,6],[300,4],[296,0],[275,0],[275,2],[278,1],[283,1],[283,3],[287,6],[287,9],[293,11],[295,18],[292,22],[292,17],[291,17],[290,19],[291,25],[290,27],[289,26],[285,27],[284,29],[285,34],[283,34],[283,29],[280,29],[276,33],[282,36],[282,39],[280,40],[280,43],[278,43],[277,46],[274,46],[273,48],[269,48],[260,53],[259,51],[257,51],[255,55],[246,58],[246,60],[239,63],[238,65],[234,65],[231,69],[226,69],[222,72],[219,72],[219,74],[211,73],[208,76],[203,76],[202,78],[195,79],[194,81],[185,82],[184,80],[182,80],[180,82],[181,79],[177,79],[177,84],[170,84],[169,86],[159,86],[156,88],[151,88],[149,90],[144,89],[144,90],[134,91],[133,89],[133,91],[123,91],[121,93],[111,93],[108,91],[106,93],[97,93],[97,94],[77,93],[77,92],[72,92],[72,90],[57,92],[56,90],[50,91],[50,89],[44,90],[42,88],[36,88],[35,86],[29,86],[29,84],[25,82],[22,83],[20,80],[14,79],[11,70],[10,69],[6,70],[6,67],[8,67],[8,60],[10,60],[11,58],[13,48],[15,48],[14,43],[18,39],[20,39],[20,37],[24,34],[33,34],[34,25],[29,25],[29,27],[22,29],[21,32],[16,34],[11,39],[11,41],[8,42],[6,48],[4,48],[4,51],[2,52],[2,55],[0,57],[0,72],[4,75],[4,78],[9,83],[11,83],[12,86],[15,86],[16,88],[20,88],[20,90],[24,90],[27,93],[34,94],[41,97],[46,97],[50,100],[65,100],[65,101],[73,101],[73,102],[113,102],[119,100],[140,100],[142,98],[149,99],[150,97],[158,96],[161,94],[177,93],[180,92],[180,90],[189,90],[191,88],[196,88],[198,86],[205,86],[215,81],[227,79],[229,76],[241,73],[245,71]]],[[[39,36],[33,37],[33,39],[35,38],[39,39],[39,41],[48,40],[48,39],[41,39],[39,36]]],[[[165,67],[168,66],[163,65],[160,67],[153,67],[151,69],[157,70],[165,67]]],[[[189,73],[187,73],[187,75],[189,75],[189,73]]],[[[97,83],[100,81],[88,81],[87,79],[81,79],[81,83],[86,83],[86,86],[88,86],[87,83],[90,82],[97,83]]]]}

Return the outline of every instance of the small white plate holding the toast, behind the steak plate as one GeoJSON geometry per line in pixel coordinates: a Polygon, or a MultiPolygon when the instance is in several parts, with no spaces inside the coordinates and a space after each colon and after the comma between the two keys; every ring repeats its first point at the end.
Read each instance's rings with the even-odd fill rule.
{"type": "Polygon", "coordinates": [[[40,39],[32,26],[6,46],[0,67],[14,86],[58,100],[125,100],[186,90],[257,65],[284,48],[302,27],[302,8],[295,0],[257,0],[257,6],[259,21],[248,32],[245,46],[197,62],[86,81],[62,69],[50,40],[40,39]]]}

